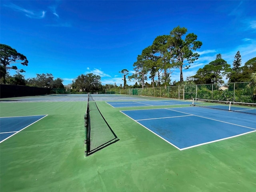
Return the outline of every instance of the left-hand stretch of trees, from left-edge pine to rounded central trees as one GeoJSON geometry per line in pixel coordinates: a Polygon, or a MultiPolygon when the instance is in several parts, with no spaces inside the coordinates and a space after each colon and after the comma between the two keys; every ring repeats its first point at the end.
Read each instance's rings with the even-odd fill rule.
{"type": "MultiPolygon", "coordinates": [[[[18,69],[17,63],[28,66],[28,59],[23,54],[17,52],[14,48],[0,44],[0,83],[13,84],[34,87],[59,88],[64,89],[63,80],[54,78],[50,73],[36,74],[35,78],[25,79],[22,75],[25,70],[18,69]],[[11,76],[9,70],[16,70],[16,74],[11,76]]],[[[72,82],[73,92],[97,92],[110,88],[110,85],[102,86],[100,76],[89,74],[81,74],[72,82]]],[[[112,88],[112,87],[111,87],[112,88]]]]}

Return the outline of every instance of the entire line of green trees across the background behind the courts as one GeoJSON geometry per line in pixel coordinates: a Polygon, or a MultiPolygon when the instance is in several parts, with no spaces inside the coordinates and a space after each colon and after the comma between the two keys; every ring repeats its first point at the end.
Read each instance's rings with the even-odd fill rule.
{"type": "MultiPolygon", "coordinates": [[[[152,45],[144,48],[133,64],[134,74],[128,76],[129,71],[122,69],[119,73],[123,78],[120,86],[102,85],[100,76],[89,73],[81,74],[72,82],[73,91],[79,92],[104,92],[113,88],[144,88],[155,86],[170,86],[184,84],[183,70],[187,70],[200,57],[196,50],[202,46],[197,40],[197,35],[187,33],[186,28],[180,26],[170,31],[170,35],[157,36],[152,45]],[[173,81],[171,75],[174,70],[180,71],[180,80],[173,81]],[[127,85],[127,79],[134,81],[133,86],[127,85]],[[151,84],[148,83],[148,78],[151,84]]],[[[24,79],[23,69],[18,69],[16,63],[28,66],[26,56],[18,53],[8,45],[0,44],[0,83],[16,84],[48,88],[64,88],[61,78],[54,79],[52,74],[36,74],[36,78],[24,79]],[[8,70],[16,70],[10,76],[8,70]]],[[[233,67],[228,64],[221,54],[203,68],[198,69],[194,76],[186,78],[187,84],[221,84],[226,77],[228,82],[256,82],[256,57],[248,60],[244,66],[238,51],[234,57],[233,67]]]]}

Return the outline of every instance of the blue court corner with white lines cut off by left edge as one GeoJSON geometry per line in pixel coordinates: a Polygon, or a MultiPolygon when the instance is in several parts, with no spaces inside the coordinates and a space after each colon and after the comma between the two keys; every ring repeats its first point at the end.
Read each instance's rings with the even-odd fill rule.
{"type": "Polygon", "coordinates": [[[14,136],[21,130],[34,124],[47,115],[1,117],[0,118],[0,143],[14,136]]]}

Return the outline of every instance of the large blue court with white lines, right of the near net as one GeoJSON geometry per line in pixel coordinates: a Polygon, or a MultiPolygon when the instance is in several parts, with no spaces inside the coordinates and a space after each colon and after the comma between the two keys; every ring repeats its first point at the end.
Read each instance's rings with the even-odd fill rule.
{"type": "Polygon", "coordinates": [[[122,110],[179,150],[256,132],[256,118],[201,107],[122,110]]]}

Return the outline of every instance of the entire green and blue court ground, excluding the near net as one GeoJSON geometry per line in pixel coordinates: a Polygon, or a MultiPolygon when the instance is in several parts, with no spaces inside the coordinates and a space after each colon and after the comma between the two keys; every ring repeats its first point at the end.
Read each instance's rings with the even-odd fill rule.
{"type": "Polygon", "coordinates": [[[88,95],[1,99],[0,191],[255,191],[255,114],[91,96],[119,140],[87,157],[88,95]]]}

